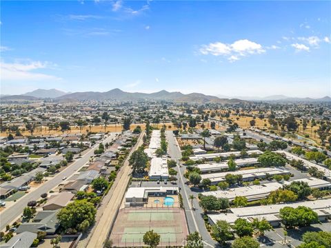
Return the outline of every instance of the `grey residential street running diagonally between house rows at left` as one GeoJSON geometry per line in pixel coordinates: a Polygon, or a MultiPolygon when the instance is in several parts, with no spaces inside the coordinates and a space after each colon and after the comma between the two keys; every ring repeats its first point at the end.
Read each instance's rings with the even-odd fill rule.
{"type": "MultiPolygon", "coordinates": [[[[109,143],[115,138],[115,136],[116,133],[110,134],[110,136],[103,141],[103,144],[109,143]]],[[[94,145],[88,152],[86,152],[86,154],[84,154],[83,156],[81,156],[81,158],[79,158],[77,161],[74,161],[74,163],[68,166],[68,168],[63,169],[62,172],[59,172],[59,174],[54,176],[52,179],[48,180],[46,183],[43,183],[43,185],[41,185],[39,188],[17,200],[17,202],[11,207],[8,207],[8,209],[1,211],[0,230],[4,229],[6,225],[12,223],[19,216],[21,216],[24,207],[26,207],[30,200],[38,200],[41,194],[49,192],[51,189],[59,185],[59,183],[62,183],[62,178],[64,176],[68,178],[72,176],[72,174],[77,172],[79,168],[81,168],[90,160],[90,156],[94,155],[94,149],[97,149],[98,147],[99,144],[94,145]]]]}

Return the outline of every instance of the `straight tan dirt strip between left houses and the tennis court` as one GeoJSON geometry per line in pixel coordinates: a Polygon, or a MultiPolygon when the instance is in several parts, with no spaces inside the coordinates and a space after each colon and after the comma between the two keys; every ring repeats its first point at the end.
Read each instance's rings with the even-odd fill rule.
{"type": "Polygon", "coordinates": [[[86,241],[82,241],[81,244],[79,244],[79,247],[103,247],[104,242],[108,238],[110,227],[115,221],[117,211],[121,206],[123,196],[126,193],[126,188],[130,181],[132,169],[129,165],[128,158],[130,158],[132,152],[134,152],[134,150],[142,144],[142,137],[143,133],[139,136],[137,144],[131,149],[126,161],[124,161],[121,170],[119,171],[119,175],[110,189],[110,192],[108,192],[107,196],[103,198],[103,206],[101,209],[98,209],[101,213],[99,223],[96,223],[95,227],[91,231],[91,236],[87,238],[88,245],[86,246],[86,241]]]}

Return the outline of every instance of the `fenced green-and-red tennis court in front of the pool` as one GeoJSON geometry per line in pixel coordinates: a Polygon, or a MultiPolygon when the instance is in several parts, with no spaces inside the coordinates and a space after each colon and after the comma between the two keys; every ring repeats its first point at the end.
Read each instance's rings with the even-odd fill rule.
{"type": "Polygon", "coordinates": [[[121,209],[110,239],[116,247],[137,247],[143,245],[143,235],[150,230],[161,236],[160,246],[181,245],[188,235],[183,209],[121,209]]]}

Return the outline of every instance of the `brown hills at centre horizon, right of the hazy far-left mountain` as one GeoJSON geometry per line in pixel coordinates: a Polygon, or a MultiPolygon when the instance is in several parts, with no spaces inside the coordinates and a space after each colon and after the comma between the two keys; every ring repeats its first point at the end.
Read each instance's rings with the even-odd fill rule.
{"type": "Polygon", "coordinates": [[[161,90],[154,93],[123,92],[120,89],[110,90],[108,92],[75,92],[60,96],[57,99],[75,99],[75,100],[117,100],[117,101],[141,101],[141,100],[159,100],[174,101],[183,103],[241,103],[239,99],[219,99],[217,96],[208,96],[201,93],[183,94],[181,92],[167,92],[161,90]]]}

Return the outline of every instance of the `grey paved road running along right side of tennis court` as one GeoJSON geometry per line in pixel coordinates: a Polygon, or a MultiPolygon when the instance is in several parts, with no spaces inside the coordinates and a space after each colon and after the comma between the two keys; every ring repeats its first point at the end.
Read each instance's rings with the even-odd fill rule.
{"type": "Polygon", "coordinates": [[[179,172],[179,185],[181,187],[181,195],[183,196],[183,205],[186,213],[186,219],[188,221],[188,229],[190,230],[190,233],[194,231],[199,232],[204,241],[205,247],[215,247],[217,245],[217,242],[215,242],[210,237],[210,234],[205,228],[205,222],[201,217],[202,211],[201,208],[198,206],[197,200],[193,200],[194,209],[192,209],[190,200],[188,200],[188,196],[193,193],[190,187],[188,187],[188,185],[185,185],[186,179],[183,177],[185,167],[180,165],[179,159],[181,158],[181,151],[176,142],[176,138],[171,131],[165,131],[165,135],[168,140],[168,153],[172,159],[177,161],[177,171],[179,172]]]}

